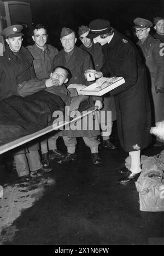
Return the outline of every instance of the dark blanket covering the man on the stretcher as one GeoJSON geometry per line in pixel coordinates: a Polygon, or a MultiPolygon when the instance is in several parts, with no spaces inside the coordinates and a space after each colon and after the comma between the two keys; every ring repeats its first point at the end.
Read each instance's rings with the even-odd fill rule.
{"type": "Polygon", "coordinates": [[[26,98],[11,96],[0,101],[0,145],[38,132],[52,123],[55,110],[64,112],[65,104],[54,94],[42,91],[26,98]]]}

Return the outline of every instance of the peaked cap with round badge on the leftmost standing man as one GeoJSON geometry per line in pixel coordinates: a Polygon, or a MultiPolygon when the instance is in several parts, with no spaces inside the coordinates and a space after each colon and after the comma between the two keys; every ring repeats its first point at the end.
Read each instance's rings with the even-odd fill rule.
{"type": "Polygon", "coordinates": [[[21,32],[22,29],[23,29],[22,25],[16,24],[16,25],[9,26],[2,31],[2,36],[5,36],[5,38],[24,36],[24,34],[21,32]]]}

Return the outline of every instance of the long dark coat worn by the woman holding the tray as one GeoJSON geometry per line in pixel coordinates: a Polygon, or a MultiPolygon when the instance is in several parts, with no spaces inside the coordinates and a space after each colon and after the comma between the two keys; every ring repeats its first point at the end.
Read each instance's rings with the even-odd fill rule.
{"type": "Polygon", "coordinates": [[[150,143],[151,112],[145,68],[134,45],[118,31],[102,52],[103,76],[124,77],[125,83],[110,91],[115,97],[120,144],[136,151],[150,143]]]}

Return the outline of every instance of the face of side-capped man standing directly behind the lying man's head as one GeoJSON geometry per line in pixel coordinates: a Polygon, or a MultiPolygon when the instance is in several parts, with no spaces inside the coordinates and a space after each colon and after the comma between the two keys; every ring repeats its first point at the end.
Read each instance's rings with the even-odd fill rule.
{"type": "Polygon", "coordinates": [[[74,32],[69,34],[68,36],[63,36],[61,39],[61,43],[65,52],[69,53],[74,48],[75,43],[77,42],[77,38],[75,38],[74,32]]]}

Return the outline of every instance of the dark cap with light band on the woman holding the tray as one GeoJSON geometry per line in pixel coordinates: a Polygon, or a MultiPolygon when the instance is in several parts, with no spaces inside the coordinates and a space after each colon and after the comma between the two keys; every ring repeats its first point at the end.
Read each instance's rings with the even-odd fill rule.
{"type": "Polygon", "coordinates": [[[89,35],[87,38],[95,38],[110,31],[110,21],[104,19],[92,20],[89,24],[89,35]]]}

